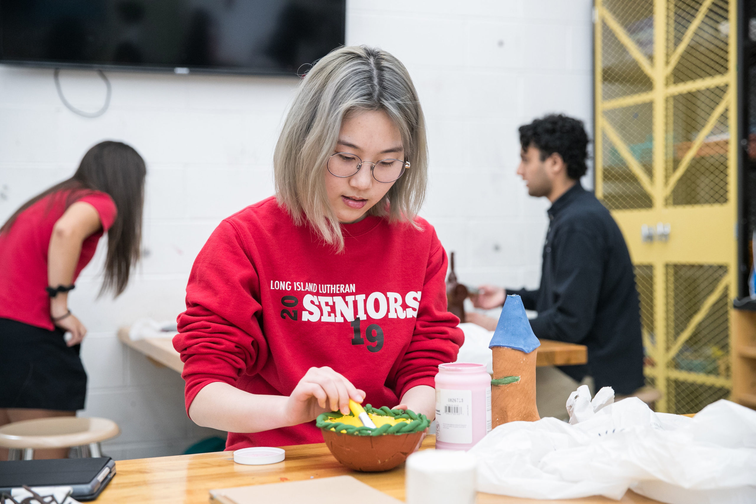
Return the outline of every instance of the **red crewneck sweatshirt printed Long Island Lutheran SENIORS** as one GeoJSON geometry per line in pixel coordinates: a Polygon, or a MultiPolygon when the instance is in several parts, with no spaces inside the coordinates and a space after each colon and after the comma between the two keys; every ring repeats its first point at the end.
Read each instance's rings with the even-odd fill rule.
{"type": "MultiPolygon", "coordinates": [[[[376,407],[434,386],[464,336],[446,309],[444,249],[430,224],[417,224],[343,224],[338,253],[274,197],[222,221],[194,261],[173,339],[187,411],[211,382],[288,396],[313,366],[332,367],[376,407]]],[[[308,422],[229,432],[226,450],[322,441],[308,422]]]]}

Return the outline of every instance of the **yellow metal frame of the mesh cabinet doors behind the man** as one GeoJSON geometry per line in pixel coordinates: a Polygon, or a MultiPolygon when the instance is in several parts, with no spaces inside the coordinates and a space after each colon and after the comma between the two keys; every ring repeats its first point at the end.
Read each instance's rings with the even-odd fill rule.
{"type": "MultiPolygon", "coordinates": [[[[655,361],[655,366],[646,368],[646,376],[655,380],[655,386],[664,396],[657,403],[658,410],[668,410],[668,379],[691,382],[700,385],[714,385],[732,390],[730,377],[717,377],[699,373],[689,373],[673,369],[668,364],[680,351],[686,339],[694,332],[696,326],[704,320],[714,302],[727,292],[727,298],[735,293],[736,271],[736,237],[734,225],[737,212],[737,101],[736,101],[736,0],[729,0],[729,62],[727,73],[708,76],[688,82],[671,84],[671,73],[680,62],[683,52],[693,39],[696,30],[714,4],[714,0],[704,0],[699,11],[692,19],[677,47],[668,53],[669,35],[674,27],[669,19],[669,7],[674,0],[653,1],[653,57],[649,59],[629,36],[615,16],[603,5],[604,0],[596,0],[596,23],[594,31],[595,48],[595,166],[596,197],[603,198],[603,136],[612,142],[619,156],[628,169],[637,178],[640,186],[649,195],[652,209],[613,210],[612,215],[624,233],[628,248],[635,264],[652,264],[654,277],[654,330],[652,342],[649,334],[644,334],[646,353],[655,361]],[[612,100],[603,100],[603,30],[609,29],[621,43],[627,53],[637,62],[640,70],[652,82],[652,91],[631,94],[612,100]],[[705,122],[704,127],[692,141],[689,150],[680,159],[677,169],[668,177],[668,97],[709,88],[727,86],[727,91],[705,122]],[[633,156],[631,149],[622,140],[615,128],[606,119],[605,112],[621,107],[638,104],[652,104],[652,176],[649,177],[643,165],[633,156]],[[727,111],[730,142],[728,147],[728,193],[727,203],[722,205],[671,206],[669,196],[677,182],[686,172],[690,162],[696,156],[705,138],[716,125],[723,112],[727,111]],[[670,240],[666,243],[644,243],[640,227],[643,224],[655,225],[657,222],[671,223],[670,240]],[[727,266],[727,275],[723,277],[713,292],[708,295],[682,332],[675,335],[674,344],[667,347],[665,331],[668,316],[666,277],[667,264],[716,264],[727,266]]],[[[615,2],[616,4],[617,2],[615,2]]],[[[634,0],[625,0],[626,8],[632,8],[634,0]]],[[[728,324],[731,317],[728,315],[728,324]]],[[[733,348],[733,335],[729,330],[730,348],[733,348]]],[[[730,357],[731,358],[731,357],[730,357]]],[[[687,412],[678,412],[687,413],[687,412]]]]}

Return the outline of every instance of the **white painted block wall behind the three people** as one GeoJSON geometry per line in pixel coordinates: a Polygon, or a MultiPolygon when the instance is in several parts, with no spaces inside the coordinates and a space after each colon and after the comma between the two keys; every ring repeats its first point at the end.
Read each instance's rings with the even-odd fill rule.
{"type": "MultiPolygon", "coordinates": [[[[536,286],[544,200],[515,175],[516,128],[562,111],[591,121],[590,0],[386,0],[348,3],[349,44],[378,45],[407,65],[428,122],[429,195],[423,216],[467,283],[536,286]]],[[[138,317],[183,309],[194,260],[218,222],[273,192],[277,130],[297,79],[108,73],[110,110],[98,119],[60,103],[52,71],[0,67],[0,220],[70,176],[104,139],[132,144],[148,163],[144,259],[118,299],[96,298],[104,247],[82,274],[71,308],[90,331],[82,346],[85,416],[116,420],[116,458],[181,453],[212,434],[187,419],[183,382],[116,339],[138,317]]],[[[67,98],[96,110],[95,73],[65,71],[67,98]]]]}

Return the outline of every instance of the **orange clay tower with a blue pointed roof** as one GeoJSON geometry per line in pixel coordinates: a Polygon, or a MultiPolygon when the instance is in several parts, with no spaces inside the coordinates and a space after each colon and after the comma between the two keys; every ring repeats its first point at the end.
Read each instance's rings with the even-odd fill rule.
{"type": "Polygon", "coordinates": [[[541,419],[535,406],[535,356],[539,346],[522,299],[508,295],[488,345],[494,352],[491,428],[516,420],[541,419]]]}

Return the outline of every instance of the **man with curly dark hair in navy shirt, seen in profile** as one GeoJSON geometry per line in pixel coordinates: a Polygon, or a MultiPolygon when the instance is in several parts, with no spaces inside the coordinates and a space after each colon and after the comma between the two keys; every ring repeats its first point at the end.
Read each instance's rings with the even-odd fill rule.
{"type": "Polygon", "coordinates": [[[507,294],[520,295],[525,308],[538,311],[531,320],[538,338],[587,345],[587,365],[559,369],[575,382],[592,376],[596,390],[611,386],[615,394],[633,394],[643,387],[640,302],[619,227],[580,183],[587,170],[583,122],[552,114],[521,126],[519,135],[517,175],[531,196],[551,202],[541,286],[481,286],[474,304],[494,308],[507,294]]]}

